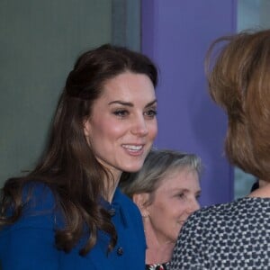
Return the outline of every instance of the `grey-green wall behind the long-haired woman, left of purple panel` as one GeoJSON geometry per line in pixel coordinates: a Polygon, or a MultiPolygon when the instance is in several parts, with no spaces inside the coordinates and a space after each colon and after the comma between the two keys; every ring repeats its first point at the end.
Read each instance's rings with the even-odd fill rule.
{"type": "Polygon", "coordinates": [[[139,1],[1,0],[0,185],[30,170],[77,56],[105,42],[139,49],[139,1]]]}

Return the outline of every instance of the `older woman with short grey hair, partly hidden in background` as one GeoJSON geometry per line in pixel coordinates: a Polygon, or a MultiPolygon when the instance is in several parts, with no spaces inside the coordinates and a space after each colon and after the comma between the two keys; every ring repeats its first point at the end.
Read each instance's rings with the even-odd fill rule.
{"type": "Polygon", "coordinates": [[[153,149],[139,172],[121,179],[121,190],[138,205],[143,218],[147,270],[167,269],[179,230],[200,207],[201,170],[196,155],[153,149]]]}

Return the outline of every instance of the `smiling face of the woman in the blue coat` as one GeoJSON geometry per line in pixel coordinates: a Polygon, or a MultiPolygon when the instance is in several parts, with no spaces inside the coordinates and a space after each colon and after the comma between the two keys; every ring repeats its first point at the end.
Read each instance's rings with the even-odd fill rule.
{"type": "Polygon", "coordinates": [[[157,101],[148,76],[130,72],[109,79],[85,121],[95,157],[112,172],[136,172],[157,135],[157,101]]]}

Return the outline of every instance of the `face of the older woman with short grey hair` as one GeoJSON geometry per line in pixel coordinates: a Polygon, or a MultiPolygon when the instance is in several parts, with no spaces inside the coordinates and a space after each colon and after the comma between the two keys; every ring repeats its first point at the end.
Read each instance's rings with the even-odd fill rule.
{"type": "Polygon", "coordinates": [[[154,192],[154,201],[145,209],[149,235],[155,236],[159,243],[175,242],[184,221],[199,209],[200,193],[196,171],[181,167],[168,172],[154,192]]]}

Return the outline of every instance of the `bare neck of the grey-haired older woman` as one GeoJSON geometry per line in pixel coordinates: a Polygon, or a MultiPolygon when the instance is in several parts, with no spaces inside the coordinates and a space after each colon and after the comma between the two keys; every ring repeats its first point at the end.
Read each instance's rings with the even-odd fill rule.
{"type": "Polygon", "coordinates": [[[175,242],[157,237],[155,229],[151,226],[150,218],[145,218],[144,229],[147,240],[146,264],[162,264],[170,261],[175,242]]]}

